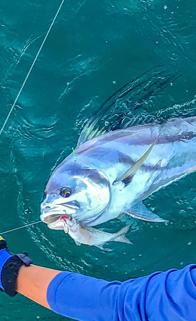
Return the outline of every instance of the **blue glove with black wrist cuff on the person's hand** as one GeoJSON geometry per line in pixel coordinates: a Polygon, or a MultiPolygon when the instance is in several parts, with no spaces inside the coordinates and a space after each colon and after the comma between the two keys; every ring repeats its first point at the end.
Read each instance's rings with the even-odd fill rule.
{"type": "Polygon", "coordinates": [[[32,263],[28,253],[13,255],[7,248],[6,241],[0,235],[0,290],[13,297],[17,294],[16,282],[22,265],[32,263]]]}

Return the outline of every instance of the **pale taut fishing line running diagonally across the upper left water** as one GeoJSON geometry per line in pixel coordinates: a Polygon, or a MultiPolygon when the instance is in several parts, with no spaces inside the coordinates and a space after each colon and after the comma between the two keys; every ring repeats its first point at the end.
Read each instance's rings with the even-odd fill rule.
{"type": "Polygon", "coordinates": [[[38,50],[38,53],[37,53],[37,55],[35,56],[35,59],[33,60],[32,65],[30,66],[29,72],[28,72],[28,74],[26,75],[25,80],[24,80],[23,83],[22,83],[21,89],[19,90],[18,95],[16,96],[16,99],[14,100],[13,105],[12,105],[12,107],[11,107],[11,109],[10,109],[10,111],[9,111],[9,113],[8,113],[5,121],[4,121],[4,124],[3,124],[2,128],[1,128],[1,130],[0,130],[0,136],[1,136],[1,134],[3,133],[3,130],[4,130],[4,128],[5,128],[5,125],[7,124],[7,121],[8,121],[8,119],[9,119],[10,115],[12,114],[13,108],[15,107],[15,104],[16,104],[17,101],[18,101],[18,98],[19,98],[19,96],[20,96],[20,94],[21,94],[21,91],[23,90],[23,88],[24,88],[24,86],[25,86],[25,84],[26,84],[26,82],[27,82],[27,80],[28,80],[28,78],[29,78],[29,75],[30,75],[30,73],[31,73],[31,71],[32,71],[32,69],[33,69],[33,67],[34,67],[37,59],[38,59],[38,56],[39,56],[39,54],[40,54],[41,49],[43,48],[43,46],[44,46],[44,44],[45,44],[45,42],[46,42],[46,39],[47,39],[47,37],[48,37],[48,35],[49,35],[49,33],[50,33],[50,30],[52,29],[52,27],[53,27],[53,25],[54,25],[54,23],[55,23],[55,21],[56,21],[56,18],[57,18],[57,16],[58,16],[58,14],[59,14],[59,12],[60,12],[63,4],[64,4],[64,1],[65,1],[65,0],[62,0],[60,6],[59,6],[59,8],[58,8],[58,10],[57,10],[57,12],[56,12],[56,14],[55,14],[55,16],[54,16],[53,21],[52,21],[51,24],[50,24],[50,27],[49,27],[49,29],[48,29],[48,31],[47,31],[47,33],[46,33],[46,36],[44,37],[44,40],[42,41],[42,44],[41,44],[41,46],[40,46],[40,48],[39,48],[39,50],[38,50]]]}

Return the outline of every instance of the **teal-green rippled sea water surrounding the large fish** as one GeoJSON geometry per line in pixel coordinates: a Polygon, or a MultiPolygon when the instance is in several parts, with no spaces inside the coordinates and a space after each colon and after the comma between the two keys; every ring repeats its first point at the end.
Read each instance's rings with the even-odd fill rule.
{"type": "MultiPolygon", "coordinates": [[[[0,0],[0,126],[59,4],[0,0]]],[[[195,52],[196,1],[65,1],[0,137],[0,230],[39,219],[47,179],[75,145],[75,121],[85,105],[93,111],[124,83],[162,64],[182,76],[149,98],[135,123],[158,119],[159,110],[167,118],[195,115],[195,52]]],[[[36,264],[108,280],[181,268],[196,261],[195,179],[192,174],[148,198],[168,223],[139,222],[128,234],[133,246],[113,243],[107,253],[77,247],[44,224],[6,239],[13,252],[29,251],[36,264]]],[[[108,231],[121,226],[105,224],[108,231]]],[[[1,320],[63,319],[19,295],[1,294],[0,310],[1,320]]]]}

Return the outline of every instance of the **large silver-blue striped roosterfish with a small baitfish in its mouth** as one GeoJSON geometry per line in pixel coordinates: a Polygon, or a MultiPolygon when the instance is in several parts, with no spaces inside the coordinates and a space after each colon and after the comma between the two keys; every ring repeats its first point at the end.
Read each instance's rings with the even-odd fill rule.
{"type": "MultiPolygon", "coordinates": [[[[127,88],[122,88],[120,98],[130,91],[127,88]]],[[[86,123],[74,157],[71,153],[53,171],[40,218],[48,228],[70,233],[76,243],[102,246],[122,241],[119,235],[124,237],[126,231],[111,234],[92,227],[122,214],[165,221],[142,201],[196,170],[196,117],[125,125],[109,132],[99,131],[96,124],[96,120],[86,123]],[[77,226],[75,232],[70,224],[77,226]]]]}

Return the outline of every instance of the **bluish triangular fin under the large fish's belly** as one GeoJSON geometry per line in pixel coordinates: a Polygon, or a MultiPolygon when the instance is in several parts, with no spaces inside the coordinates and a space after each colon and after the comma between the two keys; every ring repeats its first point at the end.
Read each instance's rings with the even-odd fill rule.
{"type": "Polygon", "coordinates": [[[165,222],[163,218],[151,212],[143,203],[135,204],[126,212],[132,217],[149,222],[165,222]]]}

